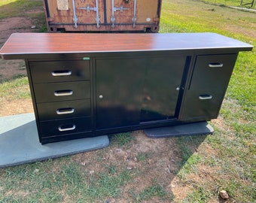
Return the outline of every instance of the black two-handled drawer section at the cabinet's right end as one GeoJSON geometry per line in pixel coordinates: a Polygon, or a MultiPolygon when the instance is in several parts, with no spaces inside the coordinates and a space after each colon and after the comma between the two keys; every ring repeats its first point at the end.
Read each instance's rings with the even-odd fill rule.
{"type": "Polygon", "coordinates": [[[190,85],[185,91],[180,120],[211,120],[218,117],[236,56],[197,56],[190,85]]]}

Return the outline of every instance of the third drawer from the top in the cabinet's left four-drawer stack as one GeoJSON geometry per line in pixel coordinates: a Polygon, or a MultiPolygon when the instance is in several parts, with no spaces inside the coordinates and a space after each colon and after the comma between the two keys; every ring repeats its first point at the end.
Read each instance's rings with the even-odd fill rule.
{"type": "Polygon", "coordinates": [[[40,121],[90,116],[90,99],[49,102],[37,105],[40,121]]]}

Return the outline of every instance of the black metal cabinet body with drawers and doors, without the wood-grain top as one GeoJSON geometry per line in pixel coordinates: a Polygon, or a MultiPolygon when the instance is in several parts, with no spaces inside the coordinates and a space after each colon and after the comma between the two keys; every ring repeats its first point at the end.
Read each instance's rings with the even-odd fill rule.
{"type": "Polygon", "coordinates": [[[216,118],[237,56],[121,55],[28,62],[42,144],[216,118]]]}

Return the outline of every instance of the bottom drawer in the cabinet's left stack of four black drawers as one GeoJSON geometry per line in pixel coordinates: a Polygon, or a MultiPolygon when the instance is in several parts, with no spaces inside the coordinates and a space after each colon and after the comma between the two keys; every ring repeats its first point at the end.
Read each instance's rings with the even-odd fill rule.
{"type": "Polygon", "coordinates": [[[40,123],[41,137],[68,135],[78,132],[90,132],[92,130],[91,117],[75,119],[53,120],[40,123]]]}

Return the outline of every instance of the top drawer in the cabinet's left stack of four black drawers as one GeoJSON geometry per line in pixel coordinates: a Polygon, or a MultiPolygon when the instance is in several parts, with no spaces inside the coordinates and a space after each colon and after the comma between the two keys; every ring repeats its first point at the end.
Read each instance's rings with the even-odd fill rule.
{"type": "Polygon", "coordinates": [[[29,62],[33,83],[90,79],[89,61],[29,62]]]}

